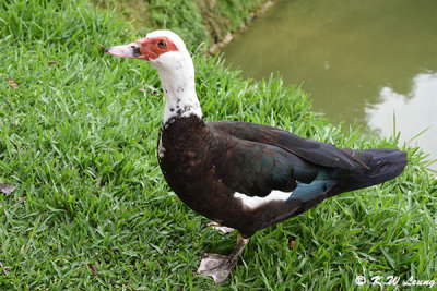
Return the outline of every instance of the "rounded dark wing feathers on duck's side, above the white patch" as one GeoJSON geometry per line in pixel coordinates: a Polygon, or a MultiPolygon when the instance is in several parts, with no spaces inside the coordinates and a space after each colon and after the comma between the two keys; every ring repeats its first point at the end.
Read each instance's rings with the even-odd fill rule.
{"type": "Polygon", "coordinates": [[[291,193],[298,182],[310,183],[315,167],[286,150],[247,140],[220,140],[215,171],[229,189],[264,197],[273,190],[291,193]]]}

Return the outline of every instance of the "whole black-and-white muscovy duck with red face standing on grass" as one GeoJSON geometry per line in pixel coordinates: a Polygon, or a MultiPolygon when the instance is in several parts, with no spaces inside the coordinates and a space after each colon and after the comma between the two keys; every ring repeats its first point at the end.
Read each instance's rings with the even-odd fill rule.
{"type": "Polygon", "coordinates": [[[147,61],[164,88],[157,158],[168,185],[214,227],[239,231],[229,256],[204,255],[199,274],[223,282],[258,230],[336,194],[398,177],[408,160],[397,149],[353,150],[268,125],[204,122],[194,66],[182,39],[155,31],[107,53],[147,61]]]}

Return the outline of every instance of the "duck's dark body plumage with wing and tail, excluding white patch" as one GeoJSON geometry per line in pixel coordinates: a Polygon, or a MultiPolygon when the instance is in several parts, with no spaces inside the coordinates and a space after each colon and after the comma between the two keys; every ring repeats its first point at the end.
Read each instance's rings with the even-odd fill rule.
{"type": "Polygon", "coordinates": [[[253,123],[175,118],[160,132],[164,177],[197,213],[248,238],[342,192],[399,175],[406,155],[397,149],[339,149],[253,123]],[[286,201],[248,208],[234,193],[264,197],[293,192],[286,201]]]}

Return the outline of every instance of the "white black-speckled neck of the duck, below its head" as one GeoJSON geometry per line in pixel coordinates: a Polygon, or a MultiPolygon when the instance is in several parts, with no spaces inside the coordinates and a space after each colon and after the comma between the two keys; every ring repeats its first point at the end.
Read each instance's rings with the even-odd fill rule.
{"type": "Polygon", "coordinates": [[[188,53],[187,56],[187,58],[173,62],[172,68],[164,68],[160,63],[154,65],[158,71],[164,89],[164,124],[172,118],[202,117],[196,94],[194,66],[188,53]]]}

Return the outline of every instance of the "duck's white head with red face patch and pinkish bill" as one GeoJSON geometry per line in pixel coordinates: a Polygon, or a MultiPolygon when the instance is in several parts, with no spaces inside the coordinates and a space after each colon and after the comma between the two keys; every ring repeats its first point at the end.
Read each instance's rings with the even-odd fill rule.
{"type": "Polygon", "coordinates": [[[184,40],[170,31],[155,31],[129,45],[110,47],[105,52],[120,58],[145,60],[158,71],[173,70],[188,62],[187,59],[191,61],[184,40]]]}

